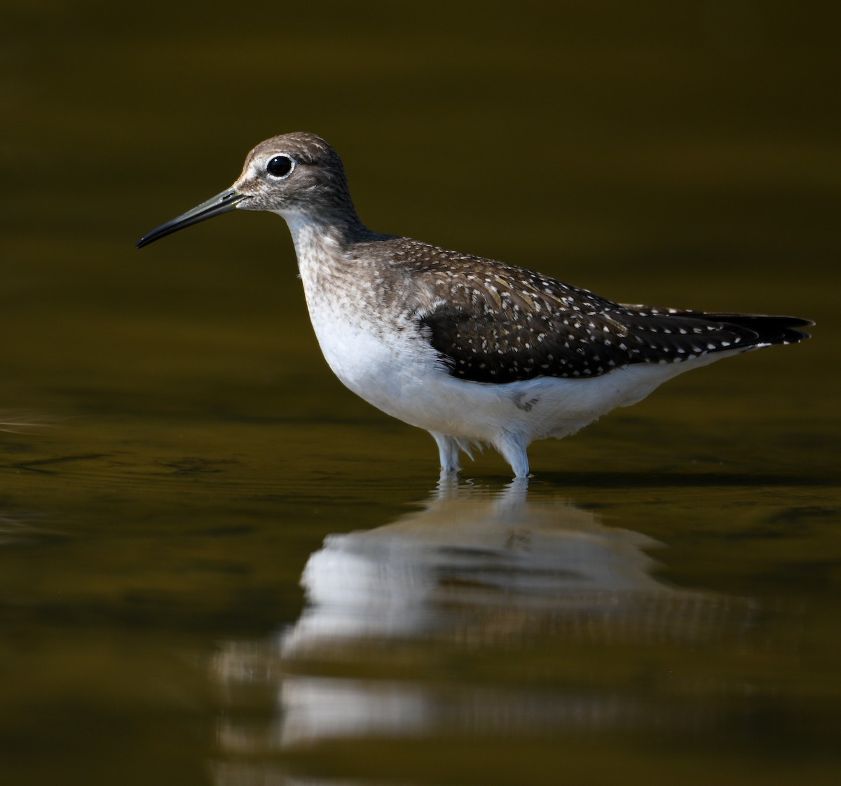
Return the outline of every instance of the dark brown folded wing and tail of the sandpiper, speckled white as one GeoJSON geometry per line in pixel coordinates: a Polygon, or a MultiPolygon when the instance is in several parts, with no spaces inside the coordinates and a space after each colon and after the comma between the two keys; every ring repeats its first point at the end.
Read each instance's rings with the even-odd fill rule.
{"type": "Polygon", "coordinates": [[[452,375],[473,382],[597,377],[631,363],[794,343],[808,337],[797,328],[810,324],[621,305],[476,257],[448,258],[425,274],[439,297],[419,312],[422,330],[452,375]]]}

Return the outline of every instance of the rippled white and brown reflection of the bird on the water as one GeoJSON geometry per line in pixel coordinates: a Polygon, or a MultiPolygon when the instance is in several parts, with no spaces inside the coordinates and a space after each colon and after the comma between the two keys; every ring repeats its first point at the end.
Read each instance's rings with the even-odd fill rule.
{"type": "Polygon", "coordinates": [[[276,639],[222,646],[215,677],[230,702],[262,685],[276,712],[258,728],[225,720],[220,743],[241,755],[337,738],[704,722],[697,707],[546,672],[575,646],[579,660],[581,646],[607,658],[616,644],[730,635],[734,616],[748,625],[738,604],[653,578],[656,546],[524,481],[442,483],[393,524],[329,535],[304,568],[303,613],[276,639]],[[512,678],[510,664],[541,648],[541,676],[512,678]]]}

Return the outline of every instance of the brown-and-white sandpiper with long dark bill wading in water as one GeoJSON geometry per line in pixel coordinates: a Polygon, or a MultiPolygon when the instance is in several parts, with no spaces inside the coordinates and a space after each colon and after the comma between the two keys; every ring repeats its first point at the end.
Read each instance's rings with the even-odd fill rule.
{"type": "Polygon", "coordinates": [[[690,368],[812,324],[613,303],[503,262],[368,229],[336,150],[313,134],[262,142],[232,187],[153,229],[140,248],[230,210],[269,210],[292,233],[304,294],[333,372],[435,438],[444,472],[489,443],[517,477],[533,440],[636,404],[690,368]]]}

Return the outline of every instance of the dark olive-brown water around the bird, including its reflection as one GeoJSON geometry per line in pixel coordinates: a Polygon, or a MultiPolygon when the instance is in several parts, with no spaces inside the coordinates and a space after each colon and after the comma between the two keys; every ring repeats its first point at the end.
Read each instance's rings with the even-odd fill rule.
{"type": "Polygon", "coordinates": [[[0,783],[837,783],[830,22],[4,8],[0,783]],[[280,219],[133,247],[304,129],[375,229],[815,338],[439,488],[280,219]]]}

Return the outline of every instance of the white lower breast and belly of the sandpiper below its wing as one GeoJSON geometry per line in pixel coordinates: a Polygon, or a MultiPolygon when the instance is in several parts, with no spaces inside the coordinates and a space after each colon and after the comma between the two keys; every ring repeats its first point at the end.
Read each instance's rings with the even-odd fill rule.
{"type": "Polygon", "coordinates": [[[496,444],[563,437],[616,407],[635,404],[691,368],[732,353],[664,365],[637,363],[600,377],[540,377],[494,384],[452,377],[436,351],[407,327],[339,324],[330,309],[311,313],[325,359],[347,388],[394,418],[432,432],[496,444]]]}

